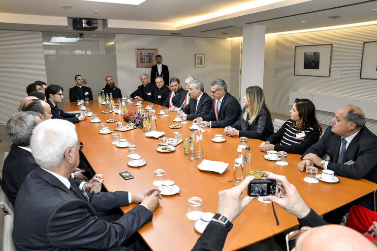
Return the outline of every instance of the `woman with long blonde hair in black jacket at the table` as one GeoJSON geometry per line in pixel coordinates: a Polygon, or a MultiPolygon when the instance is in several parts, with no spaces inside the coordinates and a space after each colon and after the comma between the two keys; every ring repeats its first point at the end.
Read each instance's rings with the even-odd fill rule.
{"type": "Polygon", "coordinates": [[[250,86],[244,97],[245,107],[238,120],[224,128],[225,135],[266,140],[274,133],[271,113],[268,111],[262,88],[250,86]]]}

